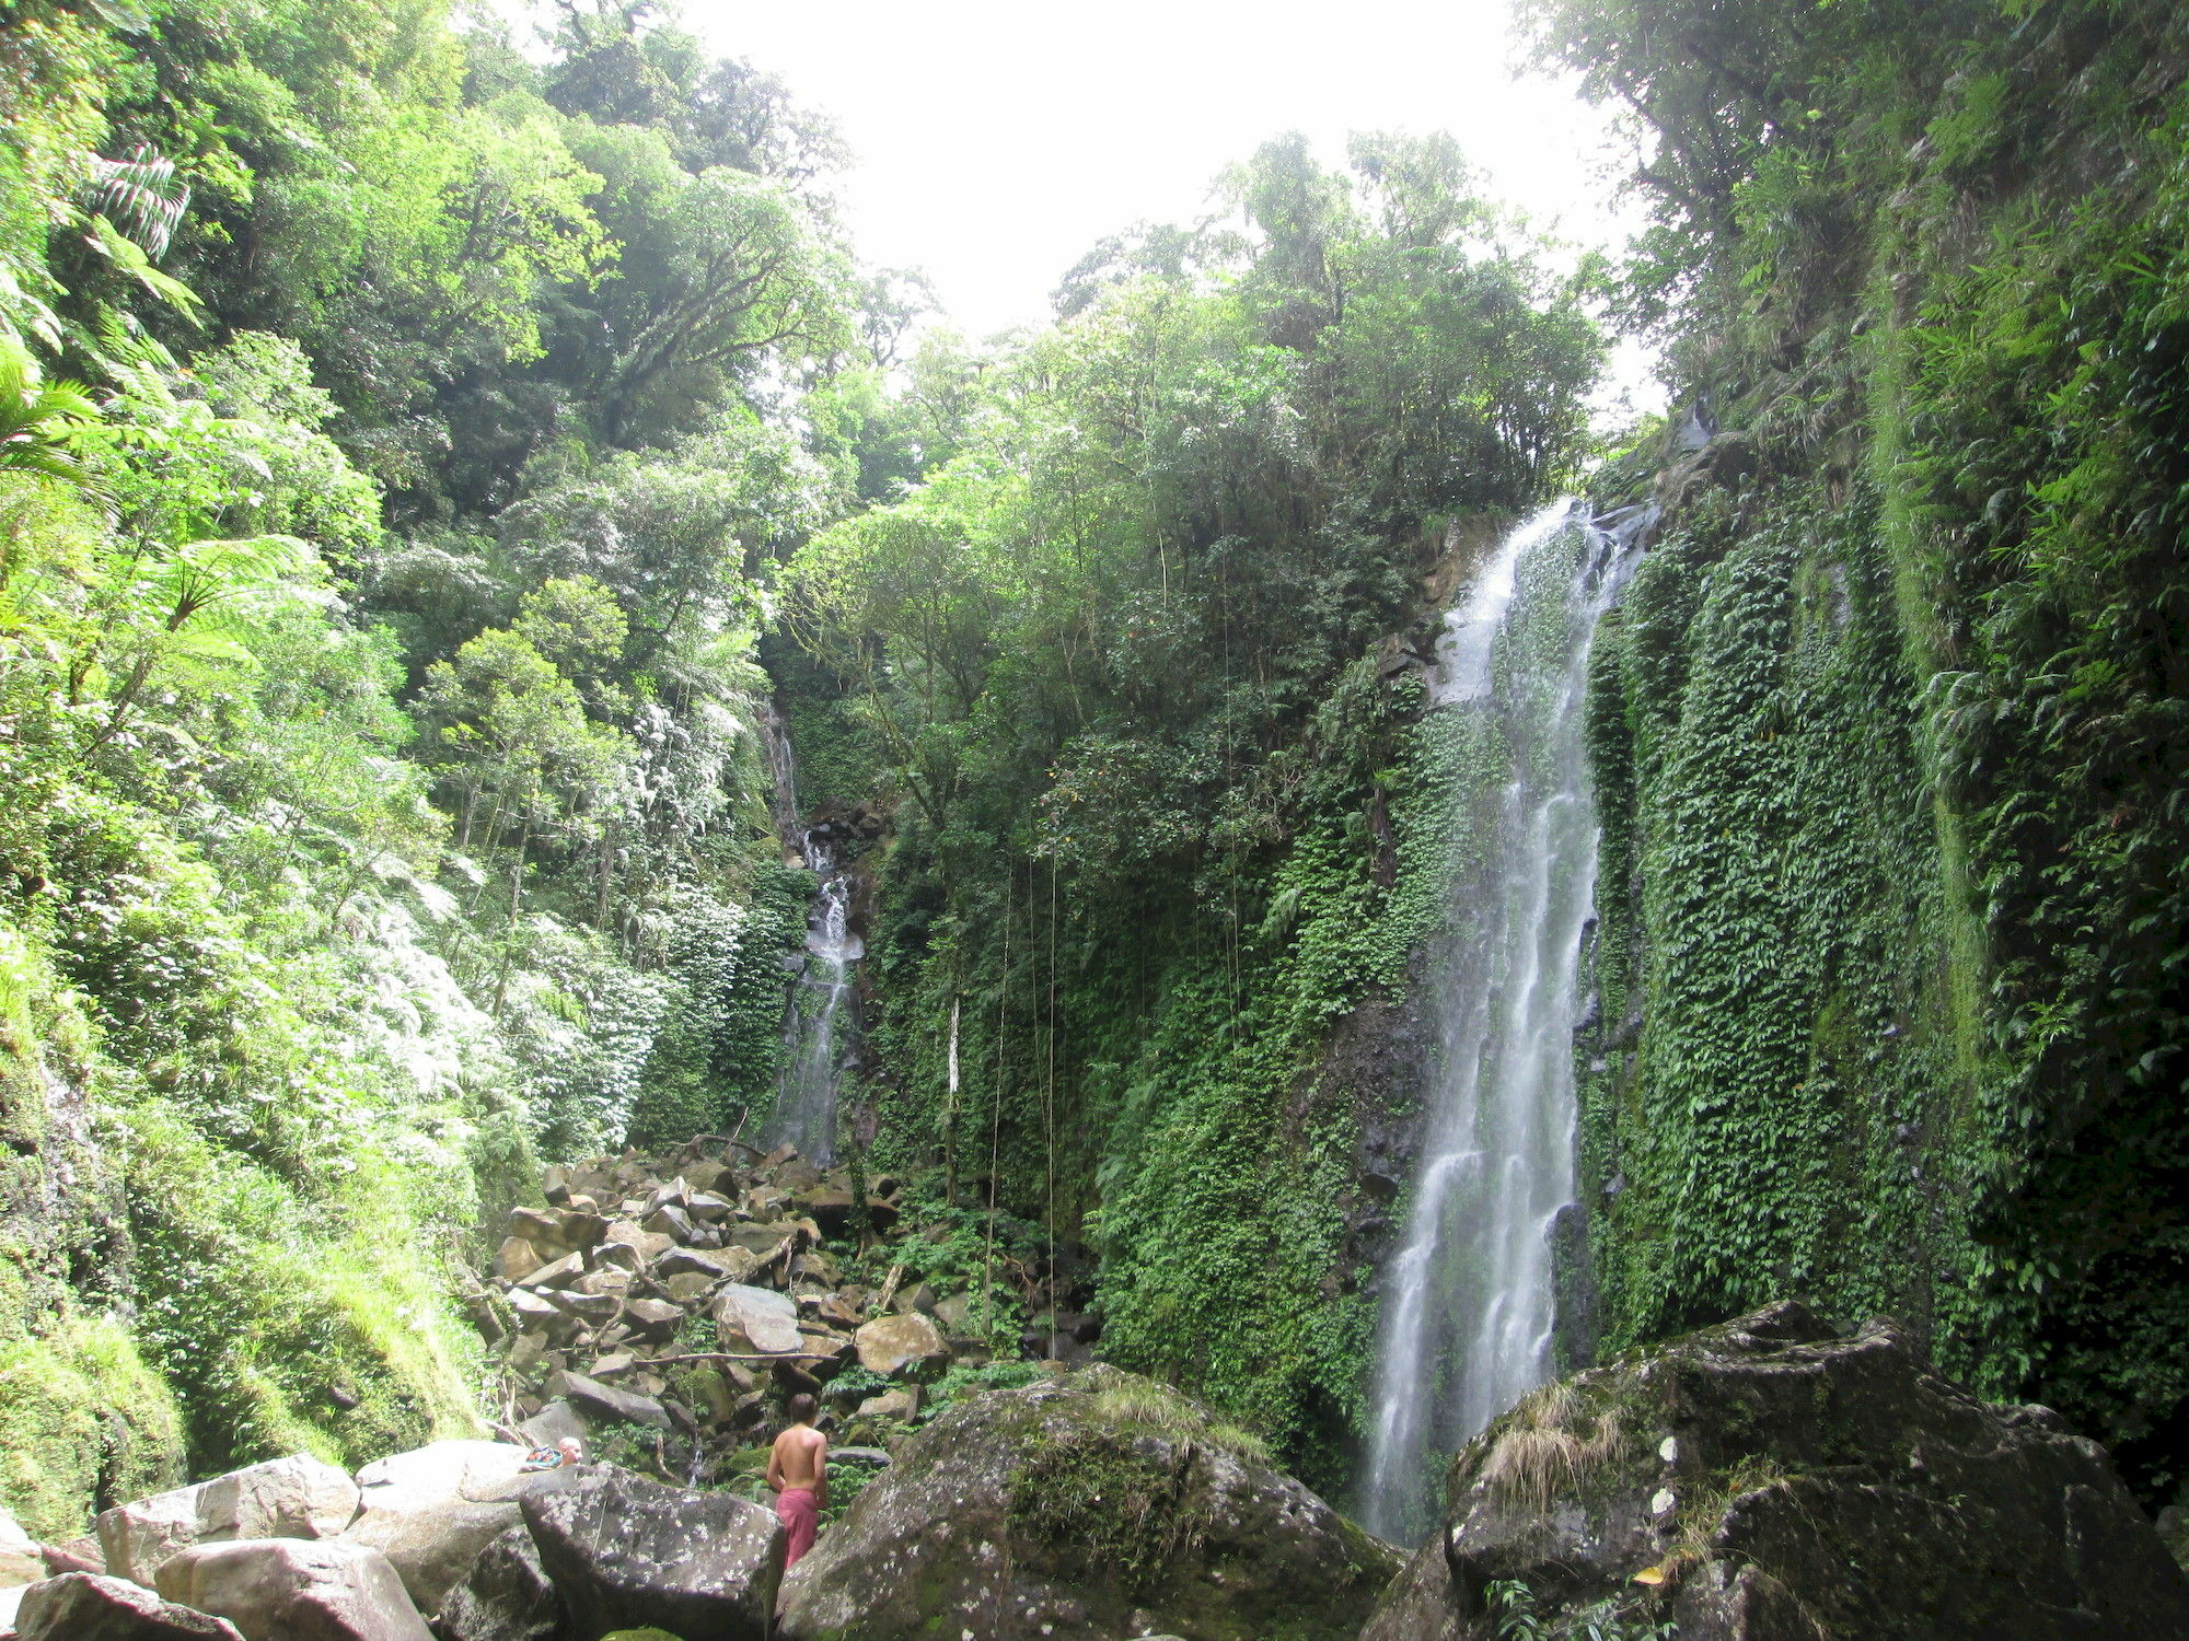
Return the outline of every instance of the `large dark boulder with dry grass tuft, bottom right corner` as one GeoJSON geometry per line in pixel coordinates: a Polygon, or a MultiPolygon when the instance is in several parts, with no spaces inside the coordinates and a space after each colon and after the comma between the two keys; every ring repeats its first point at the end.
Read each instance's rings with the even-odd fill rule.
{"type": "Polygon", "coordinates": [[[1482,1639],[1493,1580],[1681,1641],[2161,1641],[2189,1580],[2104,1448],[1799,1304],[1550,1385],[1453,1466],[1362,1641],[1482,1639]]]}

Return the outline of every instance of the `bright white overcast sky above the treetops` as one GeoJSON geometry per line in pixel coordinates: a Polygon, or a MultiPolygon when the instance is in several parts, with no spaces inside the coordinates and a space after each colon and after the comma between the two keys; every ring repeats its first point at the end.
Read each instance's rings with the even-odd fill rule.
{"type": "MultiPolygon", "coordinates": [[[[1451,131],[1541,228],[1624,238],[1602,116],[1515,77],[1508,0],[683,0],[716,50],[832,114],[867,263],[922,267],[954,324],[1049,317],[1057,278],[1136,221],[1186,221],[1281,131],[1451,131]]],[[[1637,359],[1620,376],[1644,376],[1637,359]]]]}

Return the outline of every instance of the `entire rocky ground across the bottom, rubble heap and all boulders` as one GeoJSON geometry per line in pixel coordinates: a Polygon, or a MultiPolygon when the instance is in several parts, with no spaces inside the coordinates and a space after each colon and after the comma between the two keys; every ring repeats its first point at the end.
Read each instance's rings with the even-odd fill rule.
{"type": "Polygon", "coordinates": [[[1408,1558],[1252,1431],[1088,1361],[1064,1252],[998,1236],[974,1265],[963,1217],[895,1182],[722,1140],[541,1197],[471,1295],[477,1431],[357,1473],[276,1457],[68,1545],[0,1514],[0,1639],[2189,1634],[2104,1451],[1885,1322],[1782,1304],[1550,1385],[1460,1455],[1408,1558]],[[786,1575],[757,1477],[799,1389],[836,1499],[786,1575]],[[563,1438],[582,1464],[530,1468],[563,1438]]]}

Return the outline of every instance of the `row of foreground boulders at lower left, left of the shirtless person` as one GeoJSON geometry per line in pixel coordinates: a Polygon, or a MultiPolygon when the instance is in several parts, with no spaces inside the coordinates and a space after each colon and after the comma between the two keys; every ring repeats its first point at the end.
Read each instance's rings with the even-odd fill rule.
{"type": "Polygon", "coordinates": [[[116,1505],[96,1538],[44,1551],[50,1578],[0,1591],[0,1634],[547,1641],[674,1623],[764,1641],[784,1564],[768,1510],[525,1462],[508,1442],[433,1442],[352,1477],[298,1453],[116,1505]]]}

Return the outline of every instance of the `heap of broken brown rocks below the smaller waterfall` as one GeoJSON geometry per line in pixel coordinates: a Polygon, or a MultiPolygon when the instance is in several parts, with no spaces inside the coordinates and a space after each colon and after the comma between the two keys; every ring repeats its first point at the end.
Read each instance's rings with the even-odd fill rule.
{"type": "MultiPolygon", "coordinates": [[[[635,1427],[659,1433],[655,1468],[720,1481],[792,1392],[821,1398],[838,1433],[865,1420],[882,1440],[952,1365],[992,1359],[981,1295],[937,1291],[891,1258],[913,1227],[887,1175],[860,1186],[788,1147],[703,1138],[670,1157],[549,1168],[543,1195],[545,1208],[510,1214],[473,1302],[528,1440],[635,1427]],[[849,1247],[871,1284],[847,1269],[849,1247]],[[865,1372],[832,1396],[854,1365],[865,1372]]],[[[1097,1324],[1055,1304],[1064,1280],[1033,1273],[1027,1289],[1035,1326],[1005,1339],[1011,1354],[1084,1361],[1097,1324]]]]}

